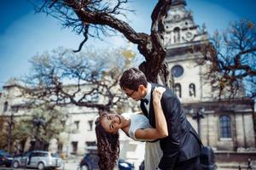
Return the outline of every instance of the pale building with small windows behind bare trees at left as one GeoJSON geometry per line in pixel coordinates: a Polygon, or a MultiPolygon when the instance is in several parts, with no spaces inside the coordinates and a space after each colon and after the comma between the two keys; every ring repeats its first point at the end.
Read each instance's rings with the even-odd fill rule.
{"type": "MultiPolygon", "coordinates": [[[[22,87],[16,83],[3,86],[0,97],[0,116],[14,117],[18,121],[21,116],[32,116],[32,107],[28,96],[20,95],[22,87]]],[[[95,120],[98,112],[94,109],[79,107],[76,105],[63,105],[59,111],[67,113],[65,130],[60,134],[60,142],[56,139],[49,141],[49,150],[61,152],[65,156],[84,155],[86,147],[96,144],[94,131],[95,120]]],[[[6,130],[3,126],[2,130],[6,130]]],[[[26,141],[24,151],[31,146],[32,139],[26,141]]]]}

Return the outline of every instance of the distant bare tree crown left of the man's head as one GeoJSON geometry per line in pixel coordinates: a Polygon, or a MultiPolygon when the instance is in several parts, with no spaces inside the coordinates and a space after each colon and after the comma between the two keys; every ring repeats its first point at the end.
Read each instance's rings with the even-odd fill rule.
{"type": "Polygon", "coordinates": [[[24,80],[24,95],[35,105],[78,105],[109,111],[126,96],[119,90],[125,58],[119,50],[73,53],[58,48],[31,59],[32,70],[24,80]],[[39,101],[40,100],[40,101],[39,101]]]}

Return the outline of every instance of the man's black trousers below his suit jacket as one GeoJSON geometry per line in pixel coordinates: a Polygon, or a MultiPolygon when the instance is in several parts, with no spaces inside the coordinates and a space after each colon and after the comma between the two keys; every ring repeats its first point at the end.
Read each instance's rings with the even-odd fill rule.
{"type": "Polygon", "coordinates": [[[178,162],[174,170],[201,170],[200,156],[195,156],[187,161],[178,162]]]}

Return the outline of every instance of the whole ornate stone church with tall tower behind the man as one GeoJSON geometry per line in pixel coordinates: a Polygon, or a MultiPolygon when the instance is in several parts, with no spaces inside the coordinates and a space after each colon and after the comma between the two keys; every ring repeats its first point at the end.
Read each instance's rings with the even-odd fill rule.
{"type": "Polygon", "coordinates": [[[235,161],[238,167],[247,158],[256,161],[254,101],[242,91],[236,99],[218,101],[205,74],[210,63],[198,63],[203,57],[201,45],[208,42],[207,31],[195,24],[186,4],[174,1],[165,20],[166,62],[174,77],[174,91],[189,122],[203,144],[212,147],[219,163],[235,161]]]}

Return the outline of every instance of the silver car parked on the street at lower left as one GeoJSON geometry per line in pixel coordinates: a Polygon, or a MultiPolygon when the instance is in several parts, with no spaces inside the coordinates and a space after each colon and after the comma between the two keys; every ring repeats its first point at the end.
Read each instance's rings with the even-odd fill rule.
{"type": "Polygon", "coordinates": [[[13,167],[36,167],[42,170],[46,167],[61,168],[62,160],[49,151],[33,150],[28,151],[22,156],[14,158],[13,167]]]}

